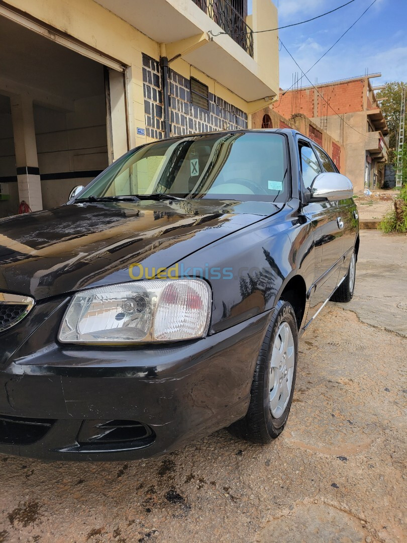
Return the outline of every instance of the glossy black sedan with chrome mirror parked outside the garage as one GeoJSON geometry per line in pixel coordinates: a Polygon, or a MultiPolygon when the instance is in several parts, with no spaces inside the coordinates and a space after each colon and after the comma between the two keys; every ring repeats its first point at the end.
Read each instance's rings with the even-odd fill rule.
{"type": "Polygon", "coordinates": [[[239,130],[148,143],[67,205],[0,221],[0,452],[276,438],[298,337],[353,295],[352,194],[307,137],[239,130]]]}

